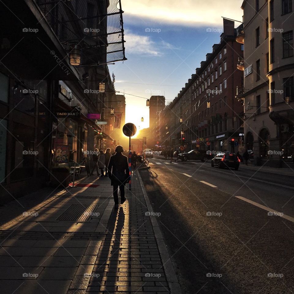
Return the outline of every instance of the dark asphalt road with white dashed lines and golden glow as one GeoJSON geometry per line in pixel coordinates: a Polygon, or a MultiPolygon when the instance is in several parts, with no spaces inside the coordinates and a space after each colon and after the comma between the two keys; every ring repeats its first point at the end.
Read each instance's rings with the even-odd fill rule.
{"type": "Polygon", "coordinates": [[[294,293],[293,177],[150,162],[140,175],[183,293],[294,293]]]}

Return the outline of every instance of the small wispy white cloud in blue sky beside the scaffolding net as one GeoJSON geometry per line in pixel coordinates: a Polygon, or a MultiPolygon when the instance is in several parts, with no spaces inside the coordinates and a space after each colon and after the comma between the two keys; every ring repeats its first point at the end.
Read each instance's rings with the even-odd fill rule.
{"type": "Polygon", "coordinates": [[[128,54],[161,56],[162,52],[149,36],[140,36],[125,30],[125,47],[128,54]]]}

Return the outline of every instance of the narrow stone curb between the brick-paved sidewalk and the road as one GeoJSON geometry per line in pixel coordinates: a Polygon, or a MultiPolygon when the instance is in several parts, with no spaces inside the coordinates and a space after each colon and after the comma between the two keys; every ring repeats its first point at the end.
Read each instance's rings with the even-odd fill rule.
{"type": "MultiPolygon", "coordinates": [[[[140,175],[139,172],[138,172],[138,178],[139,178],[140,185],[141,185],[141,188],[142,188],[142,191],[143,191],[143,195],[144,195],[144,198],[145,198],[147,209],[148,209],[148,211],[152,211],[152,206],[150,204],[147,192],[145,190],[145,187],[144,187],[144,184],[143,184],[143,181],[141,179],[141,175],[140,175]]],[[[165,275],[166,275],[166,279],[168,281],[168,286],[169,286],[169,288],[171,290],[171,294],[182,294],[182,289],[180,287],[178,277],[175,274],[175,269],[174,269],[174,266],[173,266],[173,264],[171,262],[171,258],[170,258],[169,254],[168,254],[168,250],[167,250],[166,245],[164,243],[164,239],[163,239],[163,236],[161,234],[160,227],[158,225],[156,217],[155,216],[150,216],[150,220],[151,220],[151,223],[152,223],[156,243],[157,243],[157,246],[158,246],[158,249],[159,249],[160,257],[162,259],[164,272],[165,272],[165,275]]]]}

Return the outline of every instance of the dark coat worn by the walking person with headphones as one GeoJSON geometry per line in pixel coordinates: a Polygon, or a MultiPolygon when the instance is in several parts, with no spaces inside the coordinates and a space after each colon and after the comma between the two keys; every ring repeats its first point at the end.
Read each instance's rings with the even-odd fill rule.
{"type": "Polygon", "coordinates": [[[122,153],[115,153],[112,155],[108,164],[108,176],[111,179],[111,186],[126,185],[129,177],[129,163],[128,158],[122,153]]]}

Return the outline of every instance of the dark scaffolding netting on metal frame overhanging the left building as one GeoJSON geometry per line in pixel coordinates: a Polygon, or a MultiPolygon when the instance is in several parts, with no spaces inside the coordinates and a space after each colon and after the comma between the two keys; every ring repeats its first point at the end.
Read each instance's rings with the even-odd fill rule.
{"type": "Polygon", "coordinates": [[[81,65],[126,60],[121,0],[36,2],[67,52],[81,46],[81,65]]]}

